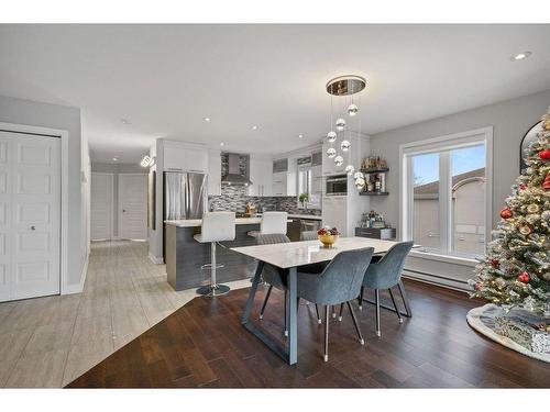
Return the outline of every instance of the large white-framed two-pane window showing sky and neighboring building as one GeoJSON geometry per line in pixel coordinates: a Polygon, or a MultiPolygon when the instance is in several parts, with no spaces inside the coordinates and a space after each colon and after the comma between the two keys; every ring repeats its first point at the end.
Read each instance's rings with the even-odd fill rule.
{"type": "Polygon", "coordinates": [[[402,146],[403,238],[440,255],[485,252],[491,146],[491,129],[402,146]]]}

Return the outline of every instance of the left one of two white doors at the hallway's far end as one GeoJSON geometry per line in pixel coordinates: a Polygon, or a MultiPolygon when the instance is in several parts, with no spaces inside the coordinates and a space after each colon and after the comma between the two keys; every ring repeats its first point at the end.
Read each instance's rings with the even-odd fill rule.
{"type": "Polygon", "coordinates": [[[112,238],[112,174],[91,174],[90,237],[92,241],[109,241],[112,238]]]}

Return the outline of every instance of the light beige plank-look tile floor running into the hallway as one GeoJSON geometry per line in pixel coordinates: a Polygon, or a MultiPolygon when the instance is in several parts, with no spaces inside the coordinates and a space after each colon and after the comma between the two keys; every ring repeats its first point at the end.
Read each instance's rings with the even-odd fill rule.
{"type": "Polygon", "coordinates": [[[195,298],[147,249],[94,243],[82,293],[0,303],[0,387],[63,387],[195,298]]]}

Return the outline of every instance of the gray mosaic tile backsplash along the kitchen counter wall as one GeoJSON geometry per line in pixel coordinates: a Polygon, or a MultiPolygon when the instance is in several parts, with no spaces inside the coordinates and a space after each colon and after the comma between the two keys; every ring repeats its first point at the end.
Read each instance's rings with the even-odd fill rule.
{"type": "Polygon", "coordinates": [[[264,211],[282,210],[292,214],[320,215],[319,209],[298,209],[295,196],[256,197],[248,196],[244,186],[222,185],[221,196],[209,196],[209,210],[244,212],[248,203],[261,205],[264,211]]]}

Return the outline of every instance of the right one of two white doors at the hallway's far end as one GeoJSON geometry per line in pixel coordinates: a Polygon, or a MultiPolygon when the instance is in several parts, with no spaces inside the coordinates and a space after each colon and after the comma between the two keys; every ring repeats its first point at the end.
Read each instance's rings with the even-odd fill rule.
{"type": "Polygon", "coordinates": [[[119,237],[147,238],[147,175],[119,175],[119,237]]]}

